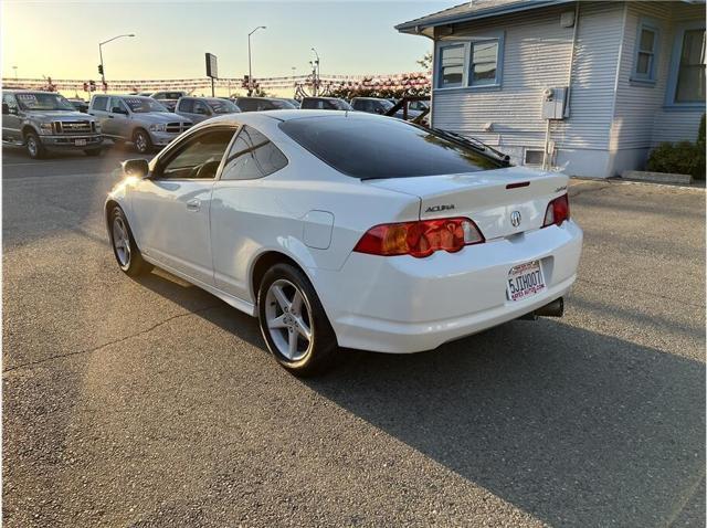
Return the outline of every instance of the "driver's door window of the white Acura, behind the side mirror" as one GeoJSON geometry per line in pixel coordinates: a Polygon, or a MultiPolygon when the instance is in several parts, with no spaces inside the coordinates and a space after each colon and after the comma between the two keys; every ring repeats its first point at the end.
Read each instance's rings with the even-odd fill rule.
{"type": "Polygon", "coordinates": [[[187,139],[163,163],[159,163],[160,179],[213,179],[223,154],[231,142],[233,128],[218,128],[187,139]]]}

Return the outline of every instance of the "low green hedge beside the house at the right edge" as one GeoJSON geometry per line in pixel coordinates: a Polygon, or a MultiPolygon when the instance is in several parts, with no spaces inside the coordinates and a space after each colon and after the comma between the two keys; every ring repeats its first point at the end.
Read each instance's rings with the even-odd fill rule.
{"type": "Polygon", "coordinates": [[[679,141],[658,145],[648,157],[646,169],[653,172],[692,175],[705,179],[705,116],[699,124],[697,142],[679,141]]]}

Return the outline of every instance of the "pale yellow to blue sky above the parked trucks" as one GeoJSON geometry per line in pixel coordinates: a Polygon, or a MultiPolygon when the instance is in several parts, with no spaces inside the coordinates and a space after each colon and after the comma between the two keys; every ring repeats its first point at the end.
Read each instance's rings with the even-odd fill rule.
{"type": "Polygon", "coordinates": [[[316,47],[321,74],[419,71],[432,49],[393,25],[454,4],[449,1],[2,1],[2,76],[99,80],[98,42],[108,80],[203,77],[204,52],[220,77],[306,74],[316,47]]]}

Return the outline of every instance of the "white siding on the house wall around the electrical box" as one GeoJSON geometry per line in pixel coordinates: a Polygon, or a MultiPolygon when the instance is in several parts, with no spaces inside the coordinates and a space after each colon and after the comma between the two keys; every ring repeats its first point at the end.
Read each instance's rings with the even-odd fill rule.
{"type": "MultiPolygon", "coordinates": [[[[532,15],[516,14],[455,28],[454,35],[473,36],[485,31],[505,31],[503,84],[498,91],[473,88],[435,89],[433,123],[479,137],[505,148],[520,162],[523,148],[542,148],[546,120],[541,116],[542,91],[566,86],[573,28],[560,27],[560,14],[574,6],[547,8],[532,15]],[[493,131],[484,125],[493,123],[493,131]]],[[[613,93],[622,39],[623,4],[582,3],[572,70],[571,115],[553,122],[551,139],[558,160],[562,149],[606,150],[613,116],[613,93]]],[[[439,47],[439,44],[437,44],[439,47]]],[[[572,171],[571,161],[566,167],[572,171]]]]}

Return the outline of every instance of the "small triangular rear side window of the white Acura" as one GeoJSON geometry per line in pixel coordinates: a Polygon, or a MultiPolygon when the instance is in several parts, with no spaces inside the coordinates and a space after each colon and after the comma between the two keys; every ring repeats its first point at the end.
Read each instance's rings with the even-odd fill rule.
{"type": "Polygon", "coordinates": [[[264,178],[287,165],[287,158],[273,142],[255,128],[243,126],[233,141],[223,180],[253,180],[264,178]]]}

